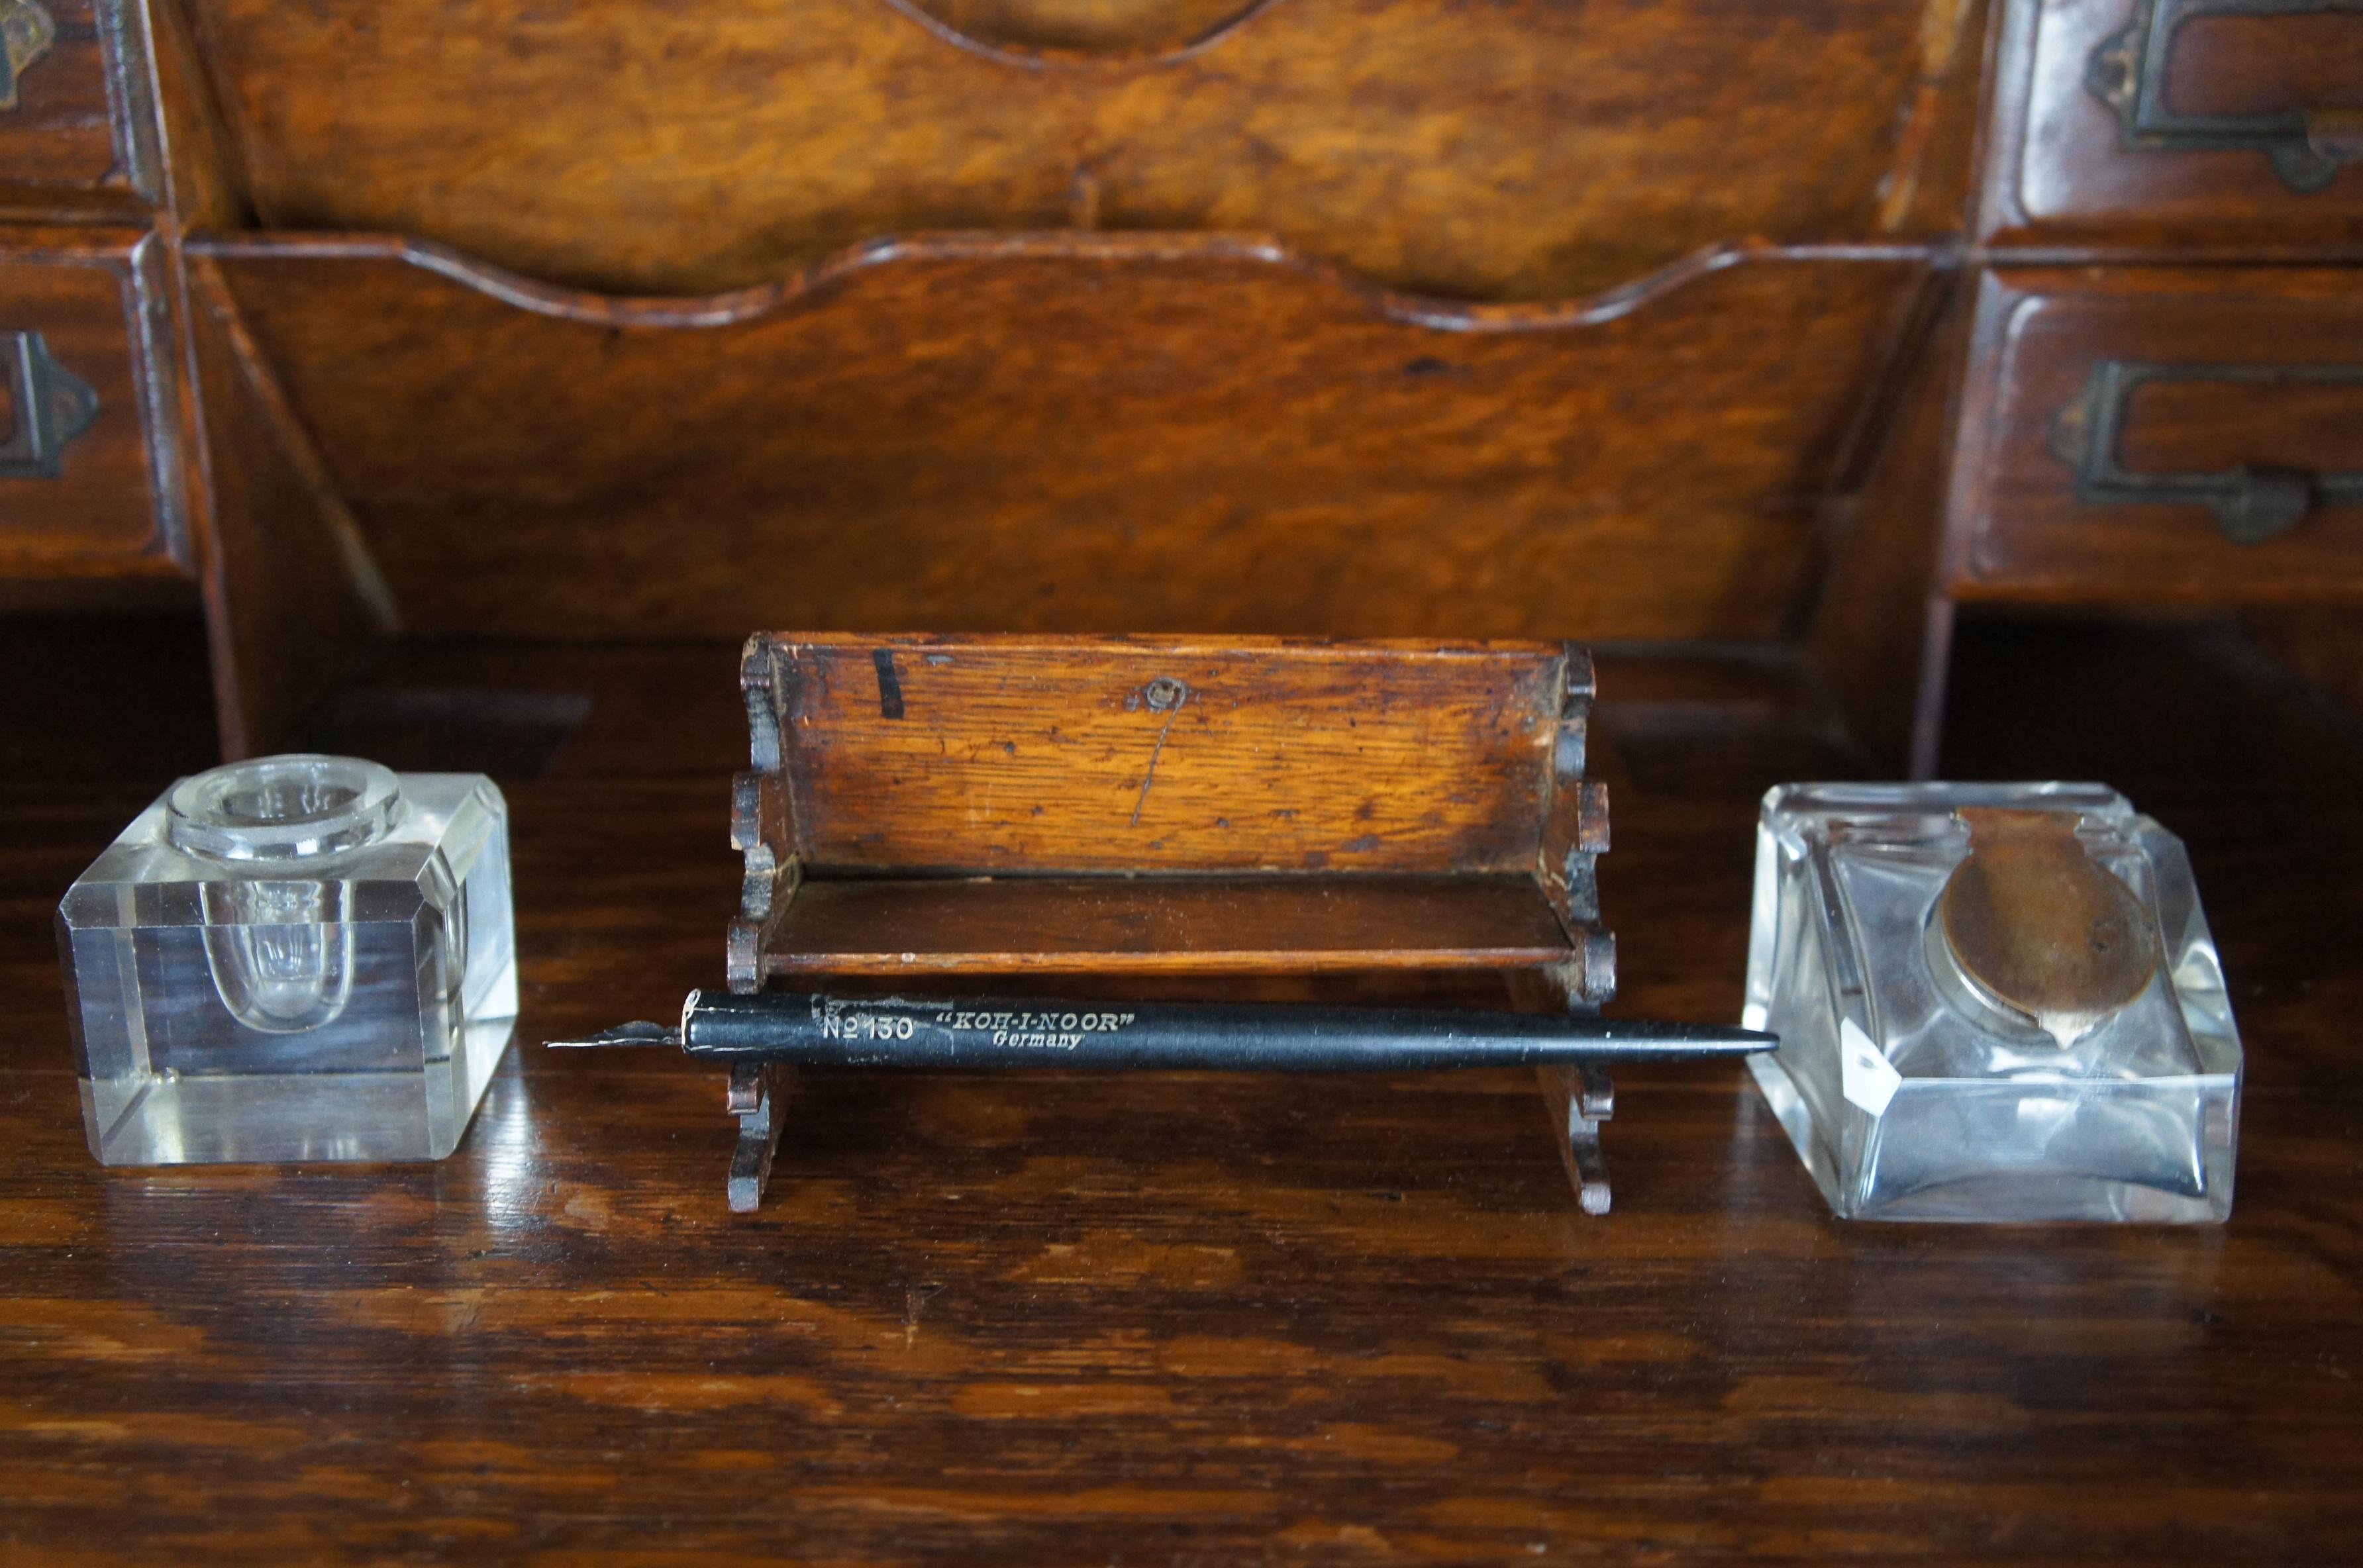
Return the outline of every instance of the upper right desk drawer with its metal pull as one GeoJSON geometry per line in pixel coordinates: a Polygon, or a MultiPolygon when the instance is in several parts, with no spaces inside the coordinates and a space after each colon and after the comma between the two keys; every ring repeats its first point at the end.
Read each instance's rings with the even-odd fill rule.
{"type": "Polygon", "coordinates": [[[1985,236],[2363,248],[2358,0],[2020,0],[1985,236]]]}

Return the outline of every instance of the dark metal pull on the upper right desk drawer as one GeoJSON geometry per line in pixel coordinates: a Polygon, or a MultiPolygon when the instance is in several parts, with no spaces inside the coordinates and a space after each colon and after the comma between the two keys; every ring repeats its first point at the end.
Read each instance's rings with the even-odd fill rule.
{"type": "Polygon", "coordinates": [[[2174,33],[2193,17],[2358,12],[2363,0],[2134,0],[2134,19],[2084,61],[2084,85],[2117,113],[2134,151],[2261,151],[2292,191],[2318,191],[2363,158],[2363,106],[2179,113],[2167,106],[2174,33]]]}

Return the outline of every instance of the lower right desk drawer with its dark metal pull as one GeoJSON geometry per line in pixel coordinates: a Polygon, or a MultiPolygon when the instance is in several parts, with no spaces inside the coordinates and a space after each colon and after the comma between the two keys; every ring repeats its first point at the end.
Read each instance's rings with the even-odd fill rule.
{"type": "Polygon", "coordinates": [[[1952,576],[2009,597],[2363,597],[2354,272],[1997,269],[1952,576]]]}

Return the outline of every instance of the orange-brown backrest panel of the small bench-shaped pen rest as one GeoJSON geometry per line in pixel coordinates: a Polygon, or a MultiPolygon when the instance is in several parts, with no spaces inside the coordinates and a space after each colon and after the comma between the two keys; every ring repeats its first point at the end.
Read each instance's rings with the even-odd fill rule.
{"type": "Polygon", "coordinates": [[[1555,645],[782,633],[759,661],[794,852],[969,871],[1531,874],[1564,680],[1555,645]]]}

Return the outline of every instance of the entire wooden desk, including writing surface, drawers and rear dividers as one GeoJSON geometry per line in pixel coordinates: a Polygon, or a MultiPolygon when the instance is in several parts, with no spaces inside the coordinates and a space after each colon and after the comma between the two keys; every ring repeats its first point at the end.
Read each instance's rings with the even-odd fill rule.
{"type": "Polygon", "coordinates": [[[2358,1556],[2354,0],[0,43],[12,1554],[2358,1556]],[[87,1164],[47,912],[172,775],[492,770],[525,1034],[598,1027],[716,978],[763,626],[1600,645],[1638,1013],[1737,1008],[1765,784],[2103,777],[2240,1211],[1841,1230],[1699,1070],[1590,1228],[1484,1077],[848,1077],[754,1221],[714,1084],[529,1046],[444,1167],[87,1164]]]}

